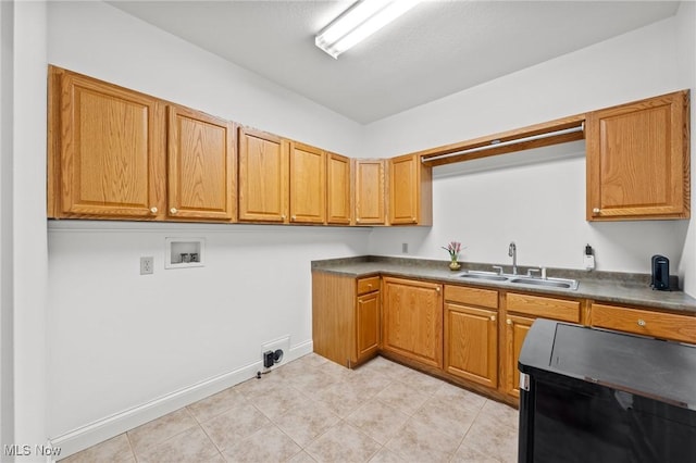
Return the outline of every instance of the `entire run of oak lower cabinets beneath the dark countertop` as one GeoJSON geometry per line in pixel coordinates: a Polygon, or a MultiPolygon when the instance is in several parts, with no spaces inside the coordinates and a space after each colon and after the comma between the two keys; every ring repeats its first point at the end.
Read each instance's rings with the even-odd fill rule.
{"type": "Polygon", "coordinates": [[[512,405],[536,318],[696,343],[696,314],[378,275],[312,283],[314,352],[348,367],[382,353],[512,405]]]}

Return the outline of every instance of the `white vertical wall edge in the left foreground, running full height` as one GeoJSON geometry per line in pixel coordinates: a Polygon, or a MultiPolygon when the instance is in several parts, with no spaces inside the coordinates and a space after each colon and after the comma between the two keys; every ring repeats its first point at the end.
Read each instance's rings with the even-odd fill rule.
{"type": "Polygon", "coordinates": [[[29,445],[16,461],[37,461],[34,446],[48,443],[46,4],[3,2],[1,15],[2,445],[29,445]]]}

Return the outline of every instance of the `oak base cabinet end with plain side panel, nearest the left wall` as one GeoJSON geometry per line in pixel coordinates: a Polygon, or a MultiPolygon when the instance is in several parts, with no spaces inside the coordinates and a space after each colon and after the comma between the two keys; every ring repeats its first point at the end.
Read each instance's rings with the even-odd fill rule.
{"type": "Polygon", "coordinates": [[[380,277],[312,272],[314,352],[349,368],[380,350],[380,277]]]}

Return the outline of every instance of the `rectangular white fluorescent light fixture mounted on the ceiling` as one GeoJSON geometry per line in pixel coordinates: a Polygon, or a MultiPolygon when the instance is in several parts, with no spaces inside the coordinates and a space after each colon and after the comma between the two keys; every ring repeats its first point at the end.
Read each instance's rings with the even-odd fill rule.
{"type": "Polygon", "coordinates": [[[335,59],[370,37],[420,0],[360,0],[324,27],[314,38],[316,47],[335,59]]]}

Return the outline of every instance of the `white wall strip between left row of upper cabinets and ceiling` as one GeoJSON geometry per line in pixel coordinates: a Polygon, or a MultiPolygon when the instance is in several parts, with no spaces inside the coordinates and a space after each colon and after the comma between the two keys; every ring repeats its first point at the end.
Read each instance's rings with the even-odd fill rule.
{"type": "Polygon", "coordinates": [[[345,155],[362,126],[102,2],[49,2],[49,62],[345,155]]]}

